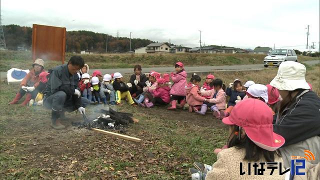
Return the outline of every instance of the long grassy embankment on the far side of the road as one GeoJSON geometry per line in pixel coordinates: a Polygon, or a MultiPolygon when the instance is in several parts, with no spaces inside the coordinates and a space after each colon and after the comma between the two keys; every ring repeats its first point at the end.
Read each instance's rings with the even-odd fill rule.
{"type": "MultiPolygon", "coordinates": [[[[74,54],[66,53],[65,62],[74,54]]],[[[176,61],[182,61],[186,66],[198,65],[232,65],[232,64],[262,64],[264,54],[77,54],[84,58],[90,68],[124,68],[142,64],[143,67],[172,66],[176,61]]],[[[0,53],[0,71],[12,67],[28,69],[31,64],[31,52],[3,51],[0,53]]],[[[316,57],[299,56],[298,60],[312,60],[316,57]]],[[[45,68],[58,65],[58,61],[44,62],[45,68]]]]}

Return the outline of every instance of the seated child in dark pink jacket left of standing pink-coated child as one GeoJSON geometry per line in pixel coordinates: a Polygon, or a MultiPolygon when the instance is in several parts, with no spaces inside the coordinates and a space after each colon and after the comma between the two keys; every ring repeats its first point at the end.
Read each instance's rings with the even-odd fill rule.
{"type": "Polygon", "coordinates": [[[170,102],[170,88],[163,78],[156,79],[157,87],[151,92],[145,92],[142,107],[150,108],[155,103],[165,105],[170,102]]]}

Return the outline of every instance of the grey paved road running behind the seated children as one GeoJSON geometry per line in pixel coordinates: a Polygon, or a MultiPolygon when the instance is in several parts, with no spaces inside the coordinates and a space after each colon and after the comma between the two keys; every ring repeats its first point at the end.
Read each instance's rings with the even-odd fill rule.
{"type": "MultiPolygon", "coordinates": [[[[307,60],[303,63],[314,65],[320,63],[320,60],[307,60]]],[[[263,64],[244,64],[244,65],[218,65],[218,66],[185,66],[184,67],[187,72],[210,72],[210,71],[231,71],[231,70],[260,70],[263,69],[263,64]]],[[[272,67],[271,67],[272,68],[272,67]]],[[[92,73],[93,70],[90,69],[92,73]]],[[[132,68],[107,68],[107,69],[97,69],[100,70],[102,74],[105,73],[113,73],[120,72],[121,74],[132,74],[132,68]]],[[[155,70],[157,72],[172,72],[174,71],[174,67],[143,67],[143,72],[149,72],[151,70],[155,70]]],[[[6,78],[6,72],[0,72],[1,79],[6,78]]]]}

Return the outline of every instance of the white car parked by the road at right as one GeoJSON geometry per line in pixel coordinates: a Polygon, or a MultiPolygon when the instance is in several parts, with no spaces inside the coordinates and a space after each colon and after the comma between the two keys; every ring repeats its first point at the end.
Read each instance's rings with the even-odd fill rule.
{"type": "Polygon", "coordinates": [[[268,56],[264,57],[263,65],[264,67],[271,66],[279,66],[281,62],[292,60],[297,61],[297,56],[292,49],[274,49],[268,54],[268,56]]]}

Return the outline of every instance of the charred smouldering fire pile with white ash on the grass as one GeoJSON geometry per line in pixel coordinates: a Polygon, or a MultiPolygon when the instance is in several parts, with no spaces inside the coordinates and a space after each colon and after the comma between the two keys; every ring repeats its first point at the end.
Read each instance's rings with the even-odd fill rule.
{"type": "Polygon", "coordinates": [[[78,126],[78,128],[99,128],[103,130],[117,130],[119,132],[125,132],[125,128],[129,123],[133,123],[135,118],[133,118],[132,113],[118,112],[111,108],[108,110],[99,109],[95,112],[100,113],[96,118],[87,118],[83,115],[83,122],[72,122],[73,126],[78,126]]]}

